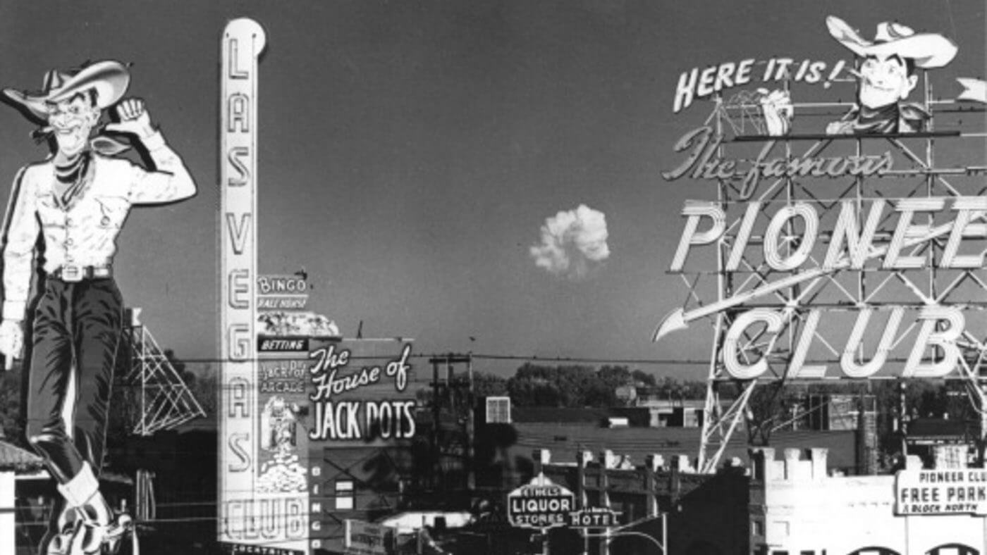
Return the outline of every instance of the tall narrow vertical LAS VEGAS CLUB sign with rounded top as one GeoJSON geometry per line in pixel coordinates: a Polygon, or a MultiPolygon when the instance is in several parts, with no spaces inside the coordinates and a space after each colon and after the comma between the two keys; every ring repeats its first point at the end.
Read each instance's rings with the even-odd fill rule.
{"type": "Polygon", "coordinates": [[[227,24],[220,75],[219,541],[256,541],[257,22],[227,24]]]}

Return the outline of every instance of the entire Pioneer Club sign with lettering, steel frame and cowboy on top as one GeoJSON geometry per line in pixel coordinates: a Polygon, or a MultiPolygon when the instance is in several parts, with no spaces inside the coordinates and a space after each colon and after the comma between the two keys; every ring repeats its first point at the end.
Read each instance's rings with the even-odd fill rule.
{"type": "Polygon", "coordinates": [[[943,70],[963,52],[934,31],[819,32],[843,55],[695,67],[669,98],[711,108],[662,173],[708,194],[680,210],[667,268],[686,288],[652,335],[712,327],[704,471],[758,381],[959,378],[985,402],[984,129],[958,115],[983,82],[943,70]],[[720,382],[739,384],[723,411],[720,382]]]}

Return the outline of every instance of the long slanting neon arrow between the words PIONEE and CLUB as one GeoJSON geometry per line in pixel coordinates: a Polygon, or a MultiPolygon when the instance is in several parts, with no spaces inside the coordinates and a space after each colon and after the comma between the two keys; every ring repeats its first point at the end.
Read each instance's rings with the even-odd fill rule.
{"type": "MultiPolygon", "coordinates": [[[[906,240],[903,242],[902,248],[914,246],[918,243],[925,243],[927,241],[932,241],[936,238],[944,236],[948,234],[950,231],[952,231],[953,224],[954,222],[950,222],[949,224],[943,224],[942,226],[937,226],[929,230],[929,233],[924,237],[906,240]]],[[[883,256],[884,254],[887,253],[888,246],[889,245],[885,244],[874,248],[873,252],[871,252],[871,254],[869,254],[865,259],[870,260],[872,258],[883,256]]],[[[688,329],[689,322],[693,320],[705,316],[713,315],[717,312],[725,311],[726,309],[736,307],[737,305],[742,305],[752,299],[757,299],[758,297],[763,297],[765,295],[774,293],[781,289],[786,289],[788,287],[796,286],[802,282],[810,281],[825,276],[827,274],[838,272],[840,270],[846,269],[849,266],[850,266],[850,259],[843,258],[842,260],[840,260],[839,263],[834,264],[832,268],[821,268],[821,267],[812,268],[811,270],[790,275],[778,281],[764,284],[761,287],[757,287],[750,291],[738,293],[728,299],[722,299],[721,301],[717,301],[716,303],[706,305],[705,307],[700,307],[698,309],[689,312],[685,312],[681,308],[675,309],[672,312],[668,312],[668,314],[666,314],[665,317],[661,318],[661,323],[659,323],[658,326],[654,329],[654,335],[651,337],[651,341],[657,342],[662,337],[668,335],[673,331],[678,331],[680,329],[688,329]]]]}

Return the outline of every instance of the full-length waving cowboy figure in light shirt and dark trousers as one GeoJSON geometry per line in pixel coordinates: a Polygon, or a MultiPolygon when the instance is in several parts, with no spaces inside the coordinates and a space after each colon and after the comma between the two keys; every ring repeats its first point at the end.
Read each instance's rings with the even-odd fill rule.
{"type": "Polygon", "coordinates": [[[123,302],[113,276],[116,237],[132,205],[195,194],[191,175],[151,124],[143,101],[121,100],[129,81],[123,64],[101,61],[48,72],[39,93],[4,90],[7,103],[43,124],[36,133],[53,140],[55,149],[22,168],[14,181],[0,323],[0,352],[8,360],[20,357],[32,302],[27,436],[64,501],[42,553],[115,552],[129,527],[126,516],[114,515],[98,480],[122,329],[123,302]],[[103,110],[112,106],[118,122],[99,129],[103,110]],[[153,168],[113,158],[125,147],[94,136],[94,129],[135,138],[153,168]],[[29,300],[36,258],[40,279],[29,300]]]}

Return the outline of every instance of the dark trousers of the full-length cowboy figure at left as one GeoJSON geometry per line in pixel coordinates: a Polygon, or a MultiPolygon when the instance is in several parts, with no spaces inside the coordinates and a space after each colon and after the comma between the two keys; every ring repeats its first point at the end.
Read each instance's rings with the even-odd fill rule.
{"type": "Polygon", "coordinates": [[[27,436],[61,484],[75,477],[83,462],[97,475],[103,465],[122,319],[112,278],[44,281],[35,309],[27,436]],[[70,380],[73,398],[68,398],[70,380]]]}

